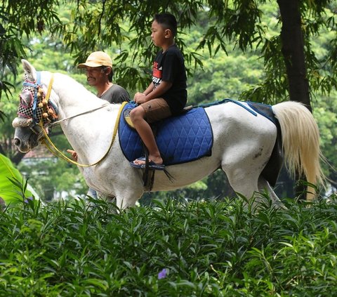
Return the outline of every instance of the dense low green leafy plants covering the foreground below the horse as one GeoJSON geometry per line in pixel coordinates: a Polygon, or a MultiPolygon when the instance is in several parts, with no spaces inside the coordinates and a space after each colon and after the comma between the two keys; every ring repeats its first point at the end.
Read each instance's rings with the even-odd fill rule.
{"type": "Polygon", "coordinates": [[[334,296],[335,202],[28,200],[0,213],[0,296],[334,296]]]}

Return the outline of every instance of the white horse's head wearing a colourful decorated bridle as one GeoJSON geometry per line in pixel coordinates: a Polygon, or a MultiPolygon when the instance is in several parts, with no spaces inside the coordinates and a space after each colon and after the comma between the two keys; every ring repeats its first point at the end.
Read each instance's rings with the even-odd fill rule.
{"type": "MultiPolygon", "coordinates": [[[[44,137],[44,129],[55,119],[55,106],[48,100],[50,90],[41,83],[41,72],[27,61],[22,60],[25,81],[20,93],[18,117],[13,120],[15,128],[14,144],[20,152],[29,152],[44,137]]],[[[52,84],[52,81],[49,82],[52,84]]]]}

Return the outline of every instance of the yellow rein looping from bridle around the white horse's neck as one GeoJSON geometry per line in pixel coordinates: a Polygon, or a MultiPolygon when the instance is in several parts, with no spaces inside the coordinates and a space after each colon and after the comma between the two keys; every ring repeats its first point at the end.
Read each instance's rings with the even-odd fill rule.
{"type": "MultiPolygon", "coordinates": [[[[53,80],[54,80],[54,75],[52,74],[51,81],[49,83],[48,90],[47,90],[47,93],[46,93],[46,100],[47,100],[47,102],[49,100],[49,97],[51,96],[51,87],[53,86],[53,80]]],[[[44,145],[46,145],[47,149],[52,154],[55,154],[56,157],[59,157],[59,158],[65,160],[65,161],[68,161],[68,162],[72,163],[72,164],[75,164],[75,165],[81,166],[81,167],[90,167],[90,166],[96,165],[96,164],[100,163],[100,161],[102,161],[105,157],[107,157],[107,154],[110,152],[112,144],[114,143],[114,138],[116,138],[116,135],[117,135],[118,123],[119,123],[119,119],[121,117],[121,111],[123,110],[124,105],[126,105],[126,102],[122,103],[121,107],[119,108],[119,112],[118,112],[118,115],[117,115],[116,123],[114,124],[114,133],[112,135],[112,140],[111,140],[110,146],[107,149],[107,152],[105,152],[105,154],[103,155],[103,157],[100,158],[98,161],[96,161],[93,164],[80,164],[77,161],[74,161],[74,160],[68,158],[65,154],[63,154],[60,150],[58,150],[58,148],[55,147],[55,145],[51,141],[51,138],[48,137],[48,135],[47,135],[47,133],[46,133],[46,131],[44,129],[44,126],[43,126],[43,123],[42,123],[42,119],[39,122],[39,126],[41,126],[42,131],[44,131],[44,139],[41,140],[41,143],[44,144],[44,145]]]]}

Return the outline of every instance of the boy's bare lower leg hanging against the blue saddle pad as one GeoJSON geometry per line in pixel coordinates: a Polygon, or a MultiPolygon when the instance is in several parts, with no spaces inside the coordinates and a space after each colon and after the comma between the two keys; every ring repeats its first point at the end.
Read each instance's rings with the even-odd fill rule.
{"type": "MultiPolygon", "coordinates": [[[[149,151],[149,159],[153,161],[155,164],[163,164],[163,159],[161,159],[156,140],[154,139],[154,135],[150,125],[145,121],[145,112],[143,107],[136,107],[131,111],[130,114],[131,121],[133,122],[133,126],[136,128],[140,138],[142,138],[145,147],[149,151]]],[[[134,164],[145,164],[145,161],[135,160],[134,164]]]]}

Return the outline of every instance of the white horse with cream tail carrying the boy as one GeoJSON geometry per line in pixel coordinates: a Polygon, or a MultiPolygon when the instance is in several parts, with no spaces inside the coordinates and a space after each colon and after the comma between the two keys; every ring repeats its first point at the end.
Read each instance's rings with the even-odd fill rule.
{"type": "MultiPolygon", "coordinates": [[[[118,124],[120,105],[107,104],[65,74],[37,72],[26,60],[22,60],[22,65],[26,81],[36,84],[39,73],[44,93],[47,93],[48,86],[51,88],[50,101],[58,112],[62,131],[78,154],[79,163],[93,164],[102,159],[110,147],[115,125],[118,124]]],[[[27,89],[22,91],[21,101],[32,105],[27,102],[32,97],[28,92],[27,89]]],[[[242,105],[250,109],[246,103],[242,105]]],[[[246,109],[234,103],[206,107],[213,129],[211,156],[166,166],[173,181],[163,171],[156,171],[152,191],[185,187],[222,169],[235,192],[250,199],[258,197],[256,192],[267,191],[273,202],[279,204],[272,187],[261,175],[277,140],[277,128],[266,117],[253,115],[246,109]]],[[[273,105],[272,110],[281,126],[287,168],[291,173],[304,173],[309,183],[317,185],[324,176],[319,165],[319,131],[312,114],[296,102],[279,103],[273,105]]],[[[41,138],[41,134],[32,132],[31,123],[32,119],[22,117],[13,121],[15,145],[21,152],[31,150],[38,144],[38,138],[41,138]]],[[[114,140],[107,157],[102,161],[94,166],[79,166],[79,170],[88,186],[116,197],[120,209],[134,206],[145,191],[143,169],[130,166],[118,140],[114,140]]]]}

